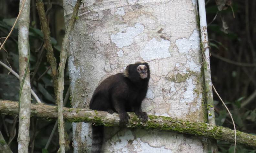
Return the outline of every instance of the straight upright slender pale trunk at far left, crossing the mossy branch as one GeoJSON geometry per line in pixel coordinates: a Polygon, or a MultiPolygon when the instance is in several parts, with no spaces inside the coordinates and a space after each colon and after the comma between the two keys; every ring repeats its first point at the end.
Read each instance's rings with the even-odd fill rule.
{"type": "Polygon", "coordinates": [[[20,8],[23,1],[25,4],[18,19],[18,48],[19,48],[19,76],[20,87],[23,83],[23,78],[27,68],[27,74],[24,79],[20,95],[19,109],[19,130],[18,130],[18,152],[27,153],[29,144],[29,125],[30,125],[30,104],[31,104],[31,88],[30,88],[30,71],[29,71],[29,12],[30,0],[20,0],[20,8]]]}

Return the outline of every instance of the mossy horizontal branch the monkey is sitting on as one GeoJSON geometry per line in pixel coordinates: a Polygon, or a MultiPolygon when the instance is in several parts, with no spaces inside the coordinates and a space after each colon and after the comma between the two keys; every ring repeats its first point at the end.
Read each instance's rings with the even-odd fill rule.
{"type": "MultiPolygon", "coordinates": [[[[0,113],[17,115],[18,103],[0,100],[0,113]]],[[[128,128],[158,129],[175,131],[194,136],[203,136],[217,140],[234,142],[234,130],[221,126],[212,126],[207,123],[191,122],[164,116],[148,115],[149,120],[142,123],[134,113],[129,113],[128,128]]],[[[58,108],[44,104],[31,104],[31,116],[42,119],[57,119],[58,108]]],[[[109,114],[104,111],[87,109],[63,108],[63,117],[69,122],[92,122],[97,125],[118,126],[118,114],[109,114]]],[[[237,131],[237,143],[256,148],[256,136],[237,131]]]]}

